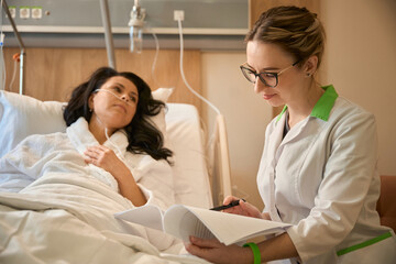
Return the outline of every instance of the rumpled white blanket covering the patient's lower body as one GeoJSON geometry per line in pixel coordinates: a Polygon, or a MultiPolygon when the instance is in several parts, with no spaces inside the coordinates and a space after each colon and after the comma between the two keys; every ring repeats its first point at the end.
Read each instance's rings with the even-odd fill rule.
{"type": "Polygon", "coordinates": [[[0,194],[0,263],[200,263],[163,256],[156,248],[163,233],[116,220],[128,202],[80,179],[54,175],[20,194],[0,194]]]}

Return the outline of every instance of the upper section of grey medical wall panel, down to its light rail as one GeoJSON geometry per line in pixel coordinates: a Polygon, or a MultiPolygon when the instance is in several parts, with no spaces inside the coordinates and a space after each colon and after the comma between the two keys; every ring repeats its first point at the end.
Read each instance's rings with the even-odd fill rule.
{"type": "MultiPolygon", "coordinates": [[[[7,0],[20,32],[102,32],[99,0],[7,0]]],[[[133,0],[109,0],[113,33],[128,33],[133,0]]],[[[141,0],[145,25],[160,34],[177,34],[174,11],[184,11],[186,34],[243,35],[249,28],[249,0],[141,0]]],[[[4,16],[3,16],[4,18],[4,16]]],[[[3,25],[10,25],[3,19],[3,25]]],[[[9,30],[9,29],[7,29],[9,30]]],[[[6,30],[6,31],[7,31],[6,30]]]]}

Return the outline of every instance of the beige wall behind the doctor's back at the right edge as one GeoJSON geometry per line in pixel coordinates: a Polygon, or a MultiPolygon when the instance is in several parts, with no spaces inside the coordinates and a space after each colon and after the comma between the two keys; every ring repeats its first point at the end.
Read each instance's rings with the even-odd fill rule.
{"type": "Polygon", "coordinates": [[[396,1],[326,0],[323,84],[373,112],[380,174],[396,175],[396,1]]]}

